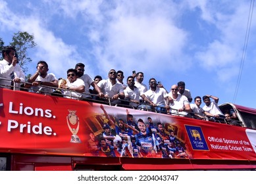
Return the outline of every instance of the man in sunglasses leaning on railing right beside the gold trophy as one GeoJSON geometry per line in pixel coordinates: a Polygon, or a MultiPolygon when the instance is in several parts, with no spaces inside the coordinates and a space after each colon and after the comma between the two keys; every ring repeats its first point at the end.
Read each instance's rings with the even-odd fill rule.
{"type": "Polygon", "coordinates": [[[60,87],[67,89],[64,91],[64,97],[68,99],[82,99],[85,84],[84,81],[78,78],[77,71],[73,68],[68,69],[66,72],[66,84],[61,83],[60,87]]]}

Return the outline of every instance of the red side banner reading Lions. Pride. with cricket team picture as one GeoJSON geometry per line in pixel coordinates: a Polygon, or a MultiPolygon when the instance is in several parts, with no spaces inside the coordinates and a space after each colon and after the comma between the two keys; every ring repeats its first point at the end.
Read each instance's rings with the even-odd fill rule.
{"type": "Polygon", "coordinates": [[[0,88],[0,152],[256,160],[256,131],[0,88]]]}

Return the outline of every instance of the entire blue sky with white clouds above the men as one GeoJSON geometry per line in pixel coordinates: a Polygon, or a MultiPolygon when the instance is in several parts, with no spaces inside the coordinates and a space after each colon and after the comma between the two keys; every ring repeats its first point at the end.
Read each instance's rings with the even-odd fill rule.
{"type": "MultiPolygon", "coordinates": [[[[0,0],[0,37],[33,34],[27,74],[38,60],[65,77],[86,64],[92,78],[114,68],[171,85],[185,81],[192,97],[214,95],[219,104],[256,108],[256,14],[253,12],[238,93],[235,95],[251,1],[0,0]],[[236,97],[234,101],[234,97],[236,97]]],[[[255,7],[256,5],[254,5],[255,7]]],[[[126,80],[126,78],[125,78],[126,80]]]]}

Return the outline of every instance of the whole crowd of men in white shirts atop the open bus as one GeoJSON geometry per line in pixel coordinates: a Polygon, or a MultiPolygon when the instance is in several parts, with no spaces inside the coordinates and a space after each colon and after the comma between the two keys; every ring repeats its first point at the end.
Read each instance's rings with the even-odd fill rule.
{"type": "MultiPolygon", "coordinates": [[[[218,108],[218,97],[205,95],[197,96],[192,104],[192,95],[186,89],[184,81],[172,85],[167,91],[155,78],[149,80],[149,87],[143,83],[143,72],[133,72],[124,82],[124,72],[111,69],[107,79],[95,76],[94,80],[85,74],[85,65],[78,63],[74,68],[66,71],[66,79],[57,79],[55,74],[49,73],[47,62],[40,60],[36,66],[36,72],[25,81],[25,75],[18,65],[18,57],[14,47],[4,47],[3,60],[0,61],[1,87],[11,89],[27,89],[34,93],[51,93],[70,99],[97,100],[111,102],[118,106],[130,106],[140,110],[152,110],[155,112],[172,114],[176,116],[189,116],[204,120],[219,120],[226,118],[226,122],[232,124],[237,120],[233,112],[224,115],[218,108]],[[22,87],[22,88],[19,88],[22,87]],[[205,106],[201,107],[201,102],[205,106]],[[212,101],[211,101],[212,100],[212,101]]],[[[225,112],[226,113],[226,112],[225,112]]]]}

